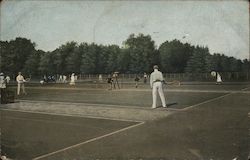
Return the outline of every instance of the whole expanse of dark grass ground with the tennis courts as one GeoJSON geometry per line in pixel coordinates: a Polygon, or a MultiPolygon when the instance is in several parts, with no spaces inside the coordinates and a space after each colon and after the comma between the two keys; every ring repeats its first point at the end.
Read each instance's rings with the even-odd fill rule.
{"type": "MultiPolygon", "coordinates": [[[[170,110],[152,110],[151,91],[146,86],[113,91],[30,86],[28,95],[18,100],[34,101],[33,110],[23,110],[19,102],[1,107],[2,152],[10,158],[25,160],[247,159],[250,150],[248,87],[245,83],[170,86],[165,90],[170,110]],[[59,102],[58,108],[47,110],[44,106],[41,110],[45,102],[59,102]],[[81,109],[85,113],[91,107],[92,112],[100,112],[98,109],[112,105],[109,111],[121,108],[124,115],[136,114],[137,118],[142,111],[146,116],[155,112],[164,115],[152,120],[123,121],[124,117],[105,119],[107,110],[103,110],[100,113],[104,117],[90,118],[84,114],[70,115],[71,110],[73,113],[73,107],[67,107],[70,103],[76,103],[76,113],[81,109]],[[64,114],[55,112],[66,108],[64,114]],[[35,112],[36,109],[41,113],[35,112]],[[96,137],[100,138],[93,139],[96,137]]],[[[131,117],[127,116],[130,120],[131,117]]]]}

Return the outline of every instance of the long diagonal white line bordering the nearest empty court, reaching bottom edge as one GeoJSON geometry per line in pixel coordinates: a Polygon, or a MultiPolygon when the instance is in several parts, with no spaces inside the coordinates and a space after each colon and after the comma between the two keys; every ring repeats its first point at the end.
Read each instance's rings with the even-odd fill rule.
{"type": "Polygon", "coordinates": [[[66,147],[66,148],[57,150],[57,151],[55,151],[55,152],[51,152],[51,153],[48,153],[48,154],[45,154],[45,155],[42,155],[42,156],[33,158],[33,160],[39,160],[39,159],[41,159],[41,158],[49,157],[49,156],[51,156],[51,155],[54,155],[54,154],[57,154],[57,153],[60,153],[60,152],[63,152],[63,151],[66,151],[66,150],[69,150],[69,149],[72,149],[72,148],[76,148],[76,147],[78,147],[78,146],[81,146],[81,145],[84,145],[84,144],[87,144],[87,143],[90,143],[90,142],[93,142],[93,141],[97,141],[97,140],[99,140],[99,139],[106,138],[106,137],[109,137],[109,136],[111,136],[111,135],[114,135],[114,134],[123,132],[123,131],[125,131],[125,130],[128,130],[128,129],[131,129],[131,128],[140,126],[140,125],[142,125],[142,124],[144,124],[144,122],[141,122],[141,123],[139,123],[139,124],[135,124],[135,125],[132,125],[132,126],[123,128],[123,129],[119,129],[119,130],[117,130],[117,131],[114,131],[114,132],[111,132],[111,133],[108,133],[108,134],[105,134],[105,135],[102,135],[102,136],[99,136],[99,137],[96,137],[96,138],[89,139],[89,140],[87,140],[87,141],[84,141],[84,142],[81,142],[81,143],[78,143],[78,144],[75,144],[75,145],[72,145],[72,146],[69,146],[69,147],[66,147]]]}

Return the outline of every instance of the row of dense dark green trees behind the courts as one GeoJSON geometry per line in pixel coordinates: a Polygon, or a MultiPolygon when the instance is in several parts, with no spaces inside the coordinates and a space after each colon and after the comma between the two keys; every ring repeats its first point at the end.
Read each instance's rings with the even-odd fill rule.
{"type": "Polygon", "coordinates": [[[33,76],[55,74],[149,73],[158,64],[164,73],[249,72],[250,62],[209,52],[175,39],[158,48],[150,35],[131,34],[123,46],[67,42],[53,51],[35,49],[29,39],[1,41],[1,72],[33,76]]]}

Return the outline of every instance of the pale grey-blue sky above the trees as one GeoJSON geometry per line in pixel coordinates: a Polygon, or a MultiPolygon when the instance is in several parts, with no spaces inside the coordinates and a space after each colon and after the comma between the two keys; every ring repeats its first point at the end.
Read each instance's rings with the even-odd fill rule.
{"type": "Polygon", "coordinates": [[[143,33],[157,46],[179,39],[207,46],[211,54],[249,58],[247,0],[3,0],[0,18],[1,40],[25,37],[44,51],[67,41],[121,46],[131,33],[143,33]]]}

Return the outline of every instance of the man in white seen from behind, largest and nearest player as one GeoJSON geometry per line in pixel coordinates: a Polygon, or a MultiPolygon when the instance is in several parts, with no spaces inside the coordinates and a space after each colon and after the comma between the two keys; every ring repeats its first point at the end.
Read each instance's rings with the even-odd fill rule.
{"type": "Polygon", "coordinates": [[[164,79],[162,73],[158,71],[158,66],[154,65],[154,72],[152,72],[150,75],[150,86],[152,88],[152,95],[153,95],[153,105],[152,105],[153,109],[156,108],[157,92],[160,95],[162,106],[167,107],[165,96],[163,93],[163,86],[162,86],[163,82],[164,79]]]}

